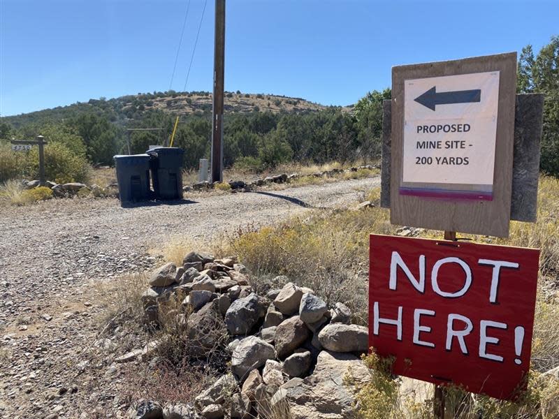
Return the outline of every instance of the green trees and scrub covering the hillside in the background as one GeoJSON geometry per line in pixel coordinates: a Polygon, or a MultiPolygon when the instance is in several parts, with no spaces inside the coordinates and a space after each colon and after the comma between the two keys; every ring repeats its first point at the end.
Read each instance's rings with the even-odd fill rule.
{"type": "MultiPolygon", "coordinates": [[[[537,54],[530,45],[523,48],[517,80],[518,93],[546,94],[541,168],[558,175],[559,37],[551,38],[537,54]]],[[[260,171],[289,161],[367,162],[380,154],[382,101],[389,98],[391,91],[385,89],[369,92],[355,105],[326,107],[301,98],[227,92],[224,166],[260,171]]],[[[0,182],[35,176],[31,169],[36,167],[36,157],[16,157],[6,145],[12,137],[41,134],[50,142],[47,147],[59,143],[84,164],[112,165],[112,156],[128,153],[128,140],[132,153],[143,153],[149,145],[168,144],[177,116],[180,122],[173,145],[186,151],[185,169],[197,168],[199,159],[210,156],[211,113],[212,97],[207,91],[154,91],[3,117],[0,182]],[[126,128],[161,131],[127,133],[126,128]]],[[[68,170],[62,177],[78,179],[68,170]]],[[[79,171],[84,172],[82,168],[79,171]]]]}

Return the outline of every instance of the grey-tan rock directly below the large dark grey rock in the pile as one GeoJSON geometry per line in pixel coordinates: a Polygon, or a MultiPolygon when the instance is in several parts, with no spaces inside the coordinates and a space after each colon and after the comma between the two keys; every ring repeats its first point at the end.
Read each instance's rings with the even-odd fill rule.
{"type": "Polygon", "coordinates": [[[231,355],[231,371],[242,381],[251,369],[275,358],[274,347],[256,336],[242,339],[231,355]]]}

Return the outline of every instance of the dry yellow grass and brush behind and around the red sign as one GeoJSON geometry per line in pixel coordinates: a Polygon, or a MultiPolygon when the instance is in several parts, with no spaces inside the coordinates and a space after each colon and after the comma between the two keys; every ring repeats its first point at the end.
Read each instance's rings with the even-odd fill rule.
{"type": "MultiPolygon", "coordinates": [[[[539,182],[537,223],[511,222],[509,239],[460,235],[474,242],[540,247],[539,293],[535,317],[532,367],[545,371],[559,365],[559,181],[539,182]]],[[[316,211],[275,227],[240,230],[224,247],[238,255],[256,277],[285,274],[316,288],[326,300],[347,303],[356,321],[366,324],[368,302],[368,240],[370,233],[395,234],[389,211],[379,207],[379,189],[364,198],[376,206],[365,210],[316,211]],[[293,257],[293,255],[297,255],[293,257]]],[[[440,238],[442,232],[419,230],[420,237],[440,238]]]]}

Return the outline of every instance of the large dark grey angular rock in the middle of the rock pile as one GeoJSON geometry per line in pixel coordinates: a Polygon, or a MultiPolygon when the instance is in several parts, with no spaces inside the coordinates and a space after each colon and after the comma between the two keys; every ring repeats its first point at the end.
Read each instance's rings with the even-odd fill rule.
{"type": "Polygon", "coordinates": [[[266,314],[267,305],[268,301],[255,293],[235,300],[225,314],[225,324],[229,333],[247,335],[266,314]]]}

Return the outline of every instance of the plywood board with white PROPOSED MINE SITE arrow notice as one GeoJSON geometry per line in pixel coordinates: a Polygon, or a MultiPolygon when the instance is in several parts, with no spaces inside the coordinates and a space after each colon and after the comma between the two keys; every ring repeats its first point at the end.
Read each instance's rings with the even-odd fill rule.
{"type": "Polygon", "coordinates": [[[391,222],[507,237],[516,53],[392,70],[391,222]]]}

